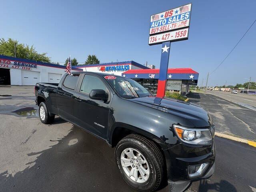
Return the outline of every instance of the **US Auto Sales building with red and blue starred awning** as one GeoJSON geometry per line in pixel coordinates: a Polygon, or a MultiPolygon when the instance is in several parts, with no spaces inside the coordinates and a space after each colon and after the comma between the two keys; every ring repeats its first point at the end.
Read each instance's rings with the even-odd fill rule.
{"type": "MultiPolygon", "coordinates": [[[[159,69],[151,69],[134,61],[92,64],[78,66],[84,71],[102,72],[132,78],[152,94],[158,87],[159,69]]],[[[198,72],[191,68],[169,68],[166,76],[166,90],[186,95],[190,85],[198,82],[198,72]]]]}

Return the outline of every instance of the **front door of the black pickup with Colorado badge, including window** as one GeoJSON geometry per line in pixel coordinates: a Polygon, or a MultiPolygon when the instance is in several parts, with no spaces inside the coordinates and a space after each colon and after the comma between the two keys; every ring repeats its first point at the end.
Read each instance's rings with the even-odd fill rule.
{"type": "Polygon", "coordinates": [[[106,84],[97,76],[85,74],[78,92],[74,95],[75,123],[89,132],[106,139],[110,92],[106,84]],[[90,99],[92,89],[102,89],[108,93],[108,101],[90,99]]]}

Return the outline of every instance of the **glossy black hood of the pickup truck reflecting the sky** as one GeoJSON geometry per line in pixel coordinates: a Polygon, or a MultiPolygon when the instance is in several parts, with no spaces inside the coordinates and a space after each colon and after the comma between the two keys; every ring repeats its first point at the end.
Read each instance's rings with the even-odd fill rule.
{"type": "Polygon", "coordinates": [[[129,99],[132,102],[155,108],[190,122],[191,127],[209,127],[212,124],[208,112],[196,104],[183,102],[170,98],[157,98],[155,96],[129,99]]]}

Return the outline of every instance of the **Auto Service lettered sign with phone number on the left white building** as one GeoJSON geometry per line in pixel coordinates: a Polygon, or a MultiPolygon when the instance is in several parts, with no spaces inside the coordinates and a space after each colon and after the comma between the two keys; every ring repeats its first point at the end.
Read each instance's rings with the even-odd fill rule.
{"type": "Polygon", "coordinates": [[[17,62],[17,61],[0,59],[0,67],[31,70],[32,68],[37,68],[37,65],[31,64],[31,63],[25,63],[25,62],[17,62]]]}

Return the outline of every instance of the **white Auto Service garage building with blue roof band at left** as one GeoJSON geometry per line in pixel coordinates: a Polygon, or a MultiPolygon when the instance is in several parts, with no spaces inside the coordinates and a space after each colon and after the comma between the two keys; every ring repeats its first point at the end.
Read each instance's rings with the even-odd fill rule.
{"type": "MultiPolygon", "coordinates": [[[[58,83],[66,66],[0,55],[0,84],[35,85],[37,82],[58,83]]],[[[72,68],[73,71],[82,71],[72,68]]]]}

